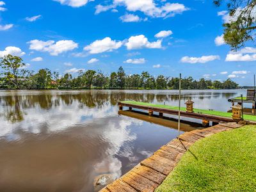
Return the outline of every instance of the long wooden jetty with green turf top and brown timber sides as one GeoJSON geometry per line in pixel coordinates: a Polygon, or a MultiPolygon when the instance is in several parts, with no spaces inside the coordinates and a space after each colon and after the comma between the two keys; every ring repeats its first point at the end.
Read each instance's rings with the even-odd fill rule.
{"type": "MultiPolygon", "coordinates": [[[[170,115],[178,115],[178,107],[175,106],[166,106],[163,104],[150,104],[146,102],[136,102],[136,101],[122,101],[118,103],[119,108],[122,110],[123,107],[128,107],[129,110],[134,109],[143,109],[148,110],[148,113],[158,112],[159,116],[163,116],[163,113],[170,115]]],[[[194,113],[186,112],[186,108],[180,108],[180,116],[186,116],[189,118],[197,118],[205,120],[208,122],[220,123],[220,122],[234,122],[232,119],[232,113],[223,112],[223,111],[214,111],[206,109],[193,109],[194,113]]],[[[256,116],[253,115],[244,115],[244,120],[256,121],[256,116]]]]}

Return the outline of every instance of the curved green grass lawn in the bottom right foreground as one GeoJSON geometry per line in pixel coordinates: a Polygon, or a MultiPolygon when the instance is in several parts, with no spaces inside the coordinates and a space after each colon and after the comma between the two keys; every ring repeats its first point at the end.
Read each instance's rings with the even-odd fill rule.
{"type": "Polygon", "coordinates": [[[156,189],[163,191],[255,191],[256,126],[196,141],[156,189]]]}

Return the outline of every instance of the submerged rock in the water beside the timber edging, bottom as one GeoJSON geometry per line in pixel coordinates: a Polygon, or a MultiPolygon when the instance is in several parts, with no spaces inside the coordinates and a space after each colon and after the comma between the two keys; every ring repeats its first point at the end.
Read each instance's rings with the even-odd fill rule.
{"type": "Polygon", "coordinates": [[[94,191],[99,191],[115,180],[115,174],[103,174],[95,177],[93,181],[94,191]]]}

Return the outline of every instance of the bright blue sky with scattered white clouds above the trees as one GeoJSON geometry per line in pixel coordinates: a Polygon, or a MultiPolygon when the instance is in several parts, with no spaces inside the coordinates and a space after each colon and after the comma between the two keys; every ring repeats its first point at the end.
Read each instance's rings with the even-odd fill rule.
{"type": "Polygon", "coordinates": [[[230,52],[221,38],[224,20],[225,7],[211,0],[0,0],[0,56],[75,76],[122,66],[127,74],[181,72],[252,85],[256,49],[230,52]]]}

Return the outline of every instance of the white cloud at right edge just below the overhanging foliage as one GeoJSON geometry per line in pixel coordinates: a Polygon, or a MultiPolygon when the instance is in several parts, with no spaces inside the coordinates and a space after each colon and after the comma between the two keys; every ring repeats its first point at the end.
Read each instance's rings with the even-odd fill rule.
{"type": "Polygon", "coordinates": [[[244,47],[237,52],[229,52],[225,61],[256,61],[256,48],[244,47]]]}

